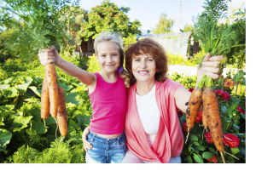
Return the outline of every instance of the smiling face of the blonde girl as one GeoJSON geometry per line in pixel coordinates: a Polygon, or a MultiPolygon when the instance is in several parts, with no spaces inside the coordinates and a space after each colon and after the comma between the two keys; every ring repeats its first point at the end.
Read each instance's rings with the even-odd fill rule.
{"type": "Polygon", "coordinates": [[[97,44],[97,60],[102,71],[115,72],[120,64],[119,46],[113,42],[102,42],[97,44]]]}

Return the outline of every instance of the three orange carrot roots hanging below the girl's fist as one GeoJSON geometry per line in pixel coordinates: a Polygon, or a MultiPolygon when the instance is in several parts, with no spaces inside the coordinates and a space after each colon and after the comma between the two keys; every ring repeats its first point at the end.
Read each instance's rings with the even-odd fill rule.
{"type": "MultiPolygon", "coordinates": [[[[41,117],[57,117],[57,128],[59,127],[61,135],[67,135],[67,108],[64,90],[57,83],[57,74],[54,64],[47,64],[44,67],[45,76],[41,92],[41,117]]],[[[55,119],[56,120],[56,119],[55,119]]]]}

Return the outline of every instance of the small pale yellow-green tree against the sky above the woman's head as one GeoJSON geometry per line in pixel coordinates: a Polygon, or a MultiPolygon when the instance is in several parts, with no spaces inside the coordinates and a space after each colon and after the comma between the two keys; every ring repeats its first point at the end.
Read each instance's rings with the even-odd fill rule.
{"type": "Polygon", "coordinates": [[[158,24],[155,26],[155,29],[152,29],[152,32],[153,34],[173,32],[172,31],[173,24],[174,24],[174,19],[167,18],[167,14],[162,13],[160,15],[160,20],[158,24]]]}

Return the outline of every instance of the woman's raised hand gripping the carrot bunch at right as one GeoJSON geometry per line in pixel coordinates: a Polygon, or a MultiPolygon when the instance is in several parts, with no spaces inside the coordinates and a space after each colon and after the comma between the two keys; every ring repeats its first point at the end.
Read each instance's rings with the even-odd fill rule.
{"type": "Polygon", "coordinates": [[[221,60],[223,60],[223,55],[212,56],[208,53],[202,62],[201,68],[197,70],[197,84],[199,83],[203,74],[211,77],[214,81],[218,80],[223,72],[223,68],[220,68],[221,60]]]}

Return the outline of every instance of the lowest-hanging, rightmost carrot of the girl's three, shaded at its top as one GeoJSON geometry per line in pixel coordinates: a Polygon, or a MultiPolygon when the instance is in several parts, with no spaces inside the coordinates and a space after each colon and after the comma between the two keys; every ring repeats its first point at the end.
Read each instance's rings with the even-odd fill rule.
{"type": "Polygon", "coordinates": [[[61,135],[65,137],[67,135],[67,109],[66,109],[66,99],[65,99],[64,90],[61,86],[58,86],[58,94],[59,94],[59,105],[58,105],[57,121],[58,121],[61,135]]]}

